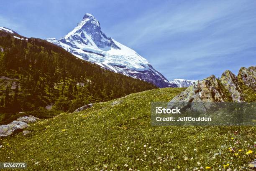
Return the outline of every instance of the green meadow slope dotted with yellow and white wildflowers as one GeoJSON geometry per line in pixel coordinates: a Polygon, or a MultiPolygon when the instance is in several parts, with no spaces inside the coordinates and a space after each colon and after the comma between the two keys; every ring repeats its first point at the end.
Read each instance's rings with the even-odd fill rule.
{"type": "Polygon", "coordinates": [[[255,127],[151,126],[150,102],[169,101],[183,90],[134,93],[115,106],[97,103],[81,113],[38,121],[28,128],[30,136],[2,140],[1,162],[27,162],[31,170],[192,170],[227,164],[226,169],[244,170],[254,159],[255,127]]]}

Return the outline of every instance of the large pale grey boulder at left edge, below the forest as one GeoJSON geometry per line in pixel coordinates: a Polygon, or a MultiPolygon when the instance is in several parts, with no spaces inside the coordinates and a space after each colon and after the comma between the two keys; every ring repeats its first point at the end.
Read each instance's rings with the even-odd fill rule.
{"type": "Polygon", "coordinates": [[[0,126],[0,137],[10,136],[15,131],[22,130],[28,127],[28,124],[23,121],[13,121],[7,125],[0,126]]]}

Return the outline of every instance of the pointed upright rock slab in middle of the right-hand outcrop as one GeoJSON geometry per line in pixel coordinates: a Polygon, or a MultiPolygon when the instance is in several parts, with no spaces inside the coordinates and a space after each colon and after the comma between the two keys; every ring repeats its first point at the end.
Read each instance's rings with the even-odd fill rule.
{"type": "Polygon", "coordinates": [[[243,101],[242,91],[238,85],[238,78],[230,70],[226,70],[221,75],[220,83],[229,91],[233,101],[243,101]]]}

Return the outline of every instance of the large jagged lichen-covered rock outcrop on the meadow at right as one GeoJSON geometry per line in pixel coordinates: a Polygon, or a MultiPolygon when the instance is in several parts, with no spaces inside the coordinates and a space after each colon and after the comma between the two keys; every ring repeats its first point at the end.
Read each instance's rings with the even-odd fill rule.
{"type": "MultiPolygon", "coordinates": [[[[174,97],[169,104],[174,102],[224,102],[243,101],[241,85],[246,85],[256,91],[256,67],[242,67],[238,77],[231,71],[226,70],[220,80],[214,75],[201,81],[196,81],[185,91],[174,97]]],[[[186,103],[184,103],[186,104],[186,103]]]]}

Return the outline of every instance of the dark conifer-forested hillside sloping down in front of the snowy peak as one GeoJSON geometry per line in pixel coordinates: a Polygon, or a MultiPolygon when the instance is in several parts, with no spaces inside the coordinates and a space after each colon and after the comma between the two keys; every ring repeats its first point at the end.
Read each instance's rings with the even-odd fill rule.
{"type": "Polygon", "coordinates": [[[0,33],[0,112],[62,111],[156,88],[104,70],[46,40],[0,33]]]}

